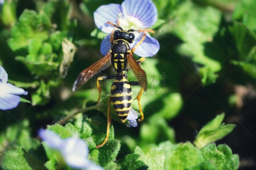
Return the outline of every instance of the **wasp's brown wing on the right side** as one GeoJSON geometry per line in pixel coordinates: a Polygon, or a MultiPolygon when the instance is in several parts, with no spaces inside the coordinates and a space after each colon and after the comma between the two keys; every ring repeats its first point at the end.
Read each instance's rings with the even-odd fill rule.
{"type": "MultiPolygon", "coordinates": [[[[129,53],[127,55],[127,60],[129,62],[129,67],[131,67],[133,73],[135,74],[137,80],[139,81],[139,84],[144,88],[144,90],[147,90],[147,78],[146,73],[144,70],[141,69],[140,65],[138,63],[141,63],[140,61],[137,62],[134,58],[132,53],[129,53]]],[[[144,61],[144,60],[143,60],[144,61]]]]}

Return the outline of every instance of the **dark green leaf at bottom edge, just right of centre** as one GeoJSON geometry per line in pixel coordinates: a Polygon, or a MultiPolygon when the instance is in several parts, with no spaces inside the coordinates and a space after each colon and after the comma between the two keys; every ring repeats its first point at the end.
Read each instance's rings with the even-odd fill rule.
{"type": "Polygon", "coordinates": [[[138,160],[140,157],[139,154],[126,155],[123,159],[117,161],[117,165],[121,166],[121,169],[147,170],[148,166],[143,161],[138,160]]]}

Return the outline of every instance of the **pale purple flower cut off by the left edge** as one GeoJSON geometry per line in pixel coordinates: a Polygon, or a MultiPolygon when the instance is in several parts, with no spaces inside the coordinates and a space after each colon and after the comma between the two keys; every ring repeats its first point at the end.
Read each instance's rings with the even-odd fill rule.
{"type": "Polygon", "coordinates": [[[20,102],[20,96],[16,94],[27,95],[23,89],[15,87],[10,83],[7,83],[8,75],[4,68],[0,65],[0,109],[8,110],[18,106],[20,102]]]}

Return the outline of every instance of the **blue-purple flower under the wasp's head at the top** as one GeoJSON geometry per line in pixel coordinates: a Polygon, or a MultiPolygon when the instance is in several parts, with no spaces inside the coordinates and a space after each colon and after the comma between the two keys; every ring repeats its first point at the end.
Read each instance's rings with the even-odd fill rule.
{"type": "MultiPolygon", "coordinates": [[[[119,20],[119,26],[124,30],[148,28],[153,26],[157,20],[157,9],[151,0],[124,0],[120,4],[108,4],[100,6],[94,13],[96,26],[104,33],[109,33],[101,42],[100,52],[106,55],[111,47],[110,34],[115,27],[106,24],[108,21],[116,23],[117,15],[122,13],[119,20]]],[[[135,40],[130,44],[133,48],[142,38],[143,33],[134,32],[135,40]]],[[[135,54],[141,57],[155,55],[159,50],[159,42],[146,34],[145,40],[136,48],[135,54]]]]}

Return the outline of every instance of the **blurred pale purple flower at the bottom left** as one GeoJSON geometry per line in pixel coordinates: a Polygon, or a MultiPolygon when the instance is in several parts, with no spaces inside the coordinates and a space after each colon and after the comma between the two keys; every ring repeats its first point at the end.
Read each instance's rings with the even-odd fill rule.
{"type": "Polygon", "coordinates": [[[39,136],[52,148],[59,151],[68,166],[72,168],[83,168],[103,170],[101,166],[92,163],[88,157],[89,149],[85,142],[77,137],[61,139],[51,130],[41,129],[39,136]]]}

